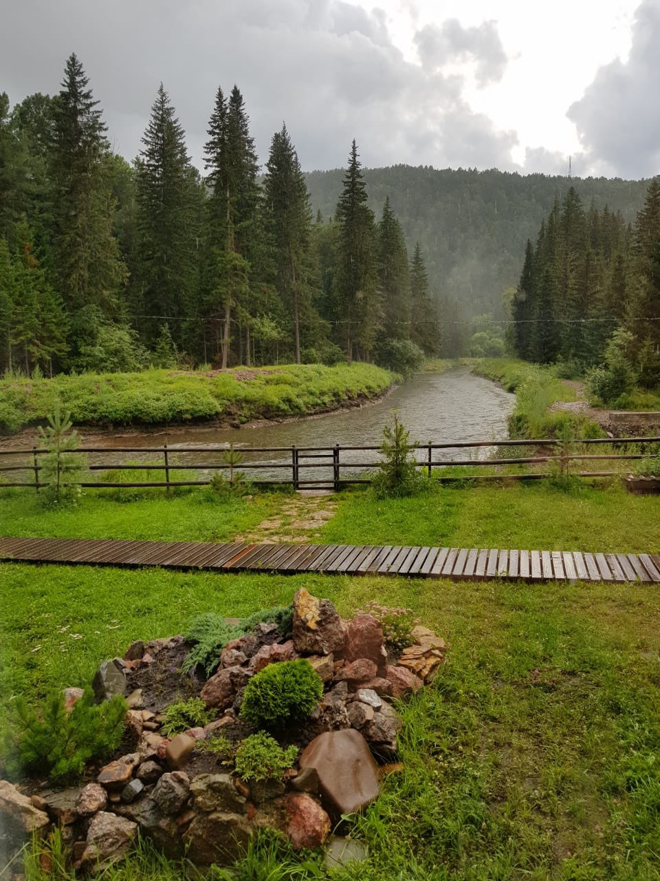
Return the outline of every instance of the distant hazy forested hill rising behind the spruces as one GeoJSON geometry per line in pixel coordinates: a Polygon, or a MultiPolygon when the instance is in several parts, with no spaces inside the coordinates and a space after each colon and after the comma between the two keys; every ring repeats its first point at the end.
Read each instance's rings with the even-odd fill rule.
{"type": "MultiPolygon", "coordinates": [[[[341,169],[305,174],[314,211],[334,212],[341,169]]],[[[419,242],[432,292],[457,300],[466,318],[491,313],[506,317],[502,292],[516,285],[524,243],[534,238],[554,200],[572,186],[588,209],[608,205],[627,222],[642,207],[648,181],[584,180],[545,174],[510,174],[491,169],[365,168],[369,204],[382,210],[389,196],[406,233],[408,248],[419,242]]]]}

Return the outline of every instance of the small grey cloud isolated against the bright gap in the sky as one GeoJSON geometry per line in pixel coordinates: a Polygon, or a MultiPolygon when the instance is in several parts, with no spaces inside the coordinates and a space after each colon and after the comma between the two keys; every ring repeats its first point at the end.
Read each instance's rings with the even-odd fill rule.
{"type": "Polygon", "coordinates": [[[440,69],[451,61],[473,60],[480,85],[501,79],[509,61],[494,21],[463,27],[457,19],[448,19],[439,27],[422,27],[414,41],[428,70],[440,69]]]}

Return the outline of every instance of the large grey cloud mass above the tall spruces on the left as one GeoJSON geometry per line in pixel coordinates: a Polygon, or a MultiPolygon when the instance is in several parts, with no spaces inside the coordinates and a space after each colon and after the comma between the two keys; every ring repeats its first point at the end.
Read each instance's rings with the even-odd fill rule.
{"type": "Polygon", "coordinates": [[[444,53],[500,77],[495,25],[450,21],[418,46],[422,65],[393,44],[385,12],[343,0],[23,0],[4,9],[0,89],[11,101],[55,93],[76,52],[128,159],[162,80],[200,166],[217,86],[236,83],[262,162],[285,120],[308,169],[343,166],[353,137],[367,166],[512,168],[516,133],[473,112],[463,78],[441,69],[444,53]]]}

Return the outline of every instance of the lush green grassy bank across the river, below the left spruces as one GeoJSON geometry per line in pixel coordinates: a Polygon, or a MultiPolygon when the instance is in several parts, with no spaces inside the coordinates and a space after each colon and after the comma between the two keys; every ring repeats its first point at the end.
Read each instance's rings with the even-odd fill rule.
{"type": "Polygon", "coordinates": [[[388,371],[361,363],[4,379],[0,380],[0,432],[45,422],[57,398],[77,425],[158,426],[209,420],[240,425],[369,399],[393,380],[388,371]]]}

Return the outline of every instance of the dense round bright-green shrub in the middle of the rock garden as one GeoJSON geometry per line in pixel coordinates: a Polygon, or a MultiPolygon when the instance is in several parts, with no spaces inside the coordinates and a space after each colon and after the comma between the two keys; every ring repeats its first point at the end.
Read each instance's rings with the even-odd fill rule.
{"type": "Polygon", "coordinates": [[[271,663],[247,683],[240,714],[264,728],[306,719],[323,694],[323,682],[309,661],[271,663]]]}

